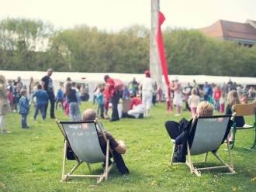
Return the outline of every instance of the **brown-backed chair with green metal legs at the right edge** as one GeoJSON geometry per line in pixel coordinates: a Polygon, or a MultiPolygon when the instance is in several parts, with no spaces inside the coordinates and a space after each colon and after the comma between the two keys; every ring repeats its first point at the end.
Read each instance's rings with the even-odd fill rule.
{"type": "Polygon", "coordinates": [[[237,104],[234,105],[234,113],[236,116],[247,116],[247,115],[254,115],[254,125],[247,125],[244,124],[243,127],[237,127],[234,118],[233,124],[233,143],[230,149],[233,149],[234,142],[235,142],[235,135],[237,130],[244,130],[244,129],[254,129],[254,144],[251,147],[246,147],[246,149],[254,149],[256,143],[256,104],[237,104]]]}

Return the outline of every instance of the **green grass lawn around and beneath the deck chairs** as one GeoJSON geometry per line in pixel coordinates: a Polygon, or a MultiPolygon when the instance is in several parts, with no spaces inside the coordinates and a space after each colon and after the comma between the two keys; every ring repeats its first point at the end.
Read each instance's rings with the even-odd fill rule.
{"type": "MultiPolygon", "coordinates": [[[[102,120],[105,128],[119,140],[126,142],[127,152],[123,156],[130,175],[119,175],[114,168],[109,173],[109,180],[97,184],[95,178],[70,178],[71,183],[61,183],[64,139],[54,119],[43,122],[41,116],[31,121],[34,108],[28,116],[30,129],[21,129],[21,115],[6,116],[6,129],[9,135],[0,134],[0,191],[254,191],[256,183],[255,152],[247,153],[244,146],[251,146],[254,130],[237,132],[233,153],[235,174],[227,170],[202,171],[202,177],[190,174],[185,164],[169,166],[172,143],[164,128],[167,120],[178,121],[191,118],[189,111],[182,111],[182,116],[175,117],[175,112],[166,114],[165,104],[152,107],[150,117],[143,119],[121,119],[119,122],[102,120]]],[[[92,102],[83,102],[85,108],[96,108],[92,102]]],[[[56,111],[56,117],[67,121],[63,111],[56,111]]],[[[217,115],[215,113],[215,115],[217,115]]],[[[254,122],[254,117],[245,118],[247,124],[254,122]]],[[[220,147],[219,154],[227,160],[227,146],[220,147]]],[[[195,156],[201,160],[202,156],[195,156]]],[[[220,164],[210,154],[209,165],[220,164]]],[[[69,168],[73,161],[67,162],[69,168]]],[[[101,163],[92,165],[93,173],[101,173],[101,163]]],[[[78,173],[88,173],[86,164],[81,165],[78,173]],[[82,169],[81,169],[82,168],[82,169]]]]}

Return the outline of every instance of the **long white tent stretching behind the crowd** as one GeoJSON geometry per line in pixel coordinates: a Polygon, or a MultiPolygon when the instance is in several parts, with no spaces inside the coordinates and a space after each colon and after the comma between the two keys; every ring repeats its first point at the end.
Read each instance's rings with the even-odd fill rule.
{"type": "MultiPolygon", "coordinates": [[[[15,71],[15,70],[0,70],[0,74],[5,76],[6,81],[16,80],[17,77],[21,77],[22,83],[26,86],[29,85],[30,77],[33,77],[34,81],[40,81],[43,76],[47,74],[46,71],[15,71]]],[[[71,80],[81,84],[85,83],[89,86],[90,100],[92,100],[92,93],[95,89],[96,84],[104,82],[103,77],[109,74],[112,78],[118,78],[123,81],[124,84],[128,84],[133,80],[133,77],[140,82],[144,78],[144,74],[118,74],[118,73],[77,73],[77,72],[54,72],[51,78],[54,81],[55,91],[61,82],[65,82],[67,77],[71,77],[71,80]],[[82,79],[86,77],[86,79],[82,79]]],[[[227,83],[230,79],[237,84],[242,85],[256,85],[256,77],[222,77],[222,76],[206,76],[206,75],[169,75],[169,81],[178,79],[178,81],[185,86],[188,82],[192,84],[193,80],[197,84],[204,84],[206,81],[209,84],[218,84],[222,85],[224,82],[227,83]]],[[[163,81],[163,90],[166,90],[164,77],[163,81]]]]}

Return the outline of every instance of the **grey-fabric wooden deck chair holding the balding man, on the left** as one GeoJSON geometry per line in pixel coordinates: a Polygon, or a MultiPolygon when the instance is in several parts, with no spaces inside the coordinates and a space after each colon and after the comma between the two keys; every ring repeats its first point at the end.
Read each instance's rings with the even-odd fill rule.
{"type": "Polygon", "coordinates": [[[86,122],[59,122],[55,119],[55,122],[64,136],[64,158],[61,181],[67,181],[68,177],[98,177],[97,183],[104,179],[107,180],[109,171],[112,169],[115,162],[109,166],[109,152],[112,153],[112,149],[110,149],[109,139],[106,138],[102,125],[97,121],[97,119],[86,122]],[[97,129],[102,132],[102,135],[106,140],[106,155],[102,153],[97,129]],[[74,159],[77,164],[69,173],[66,173],[68,146],[71,147],[74,152],[74,159]],[[91,171],[90,163],[102,163],[103,161],[106,161],[106,169],[104,170],[104,173],[100,175],[73,174],[74,170],[76,170],[83,162],[87,164],[88,170],[91,171]]]}

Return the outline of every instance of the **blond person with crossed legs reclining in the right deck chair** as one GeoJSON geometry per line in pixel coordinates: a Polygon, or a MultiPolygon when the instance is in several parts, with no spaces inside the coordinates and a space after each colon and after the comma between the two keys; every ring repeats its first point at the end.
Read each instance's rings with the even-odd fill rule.
{"type": "MultiPolygon", "coordinates": [[[[208,101],[203,101],[197,106],[196,112],[199,116],[211,116],[213,115],[213,105],[208,101]]],[[[180,122],[165,122],[165,128],[168,134],[171,139],[175,139],[174,162],[185,162],[186,145],[184,144],[188,138],[191,125],[192,119],[188,122],[185,118],[182,118],[180,122]]]]}

